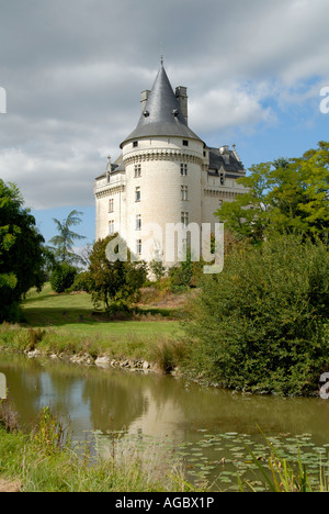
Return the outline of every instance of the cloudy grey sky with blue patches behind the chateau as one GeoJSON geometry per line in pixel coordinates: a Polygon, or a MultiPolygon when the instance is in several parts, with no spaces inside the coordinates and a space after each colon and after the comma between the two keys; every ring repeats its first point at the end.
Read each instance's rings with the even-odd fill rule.
{"type": "Polygon", "coordinates": [[[77,210],[92,244],[94,178],[161,55],[208,146],[236,144],[247,170],[300,157],[329,141],[328,20],[328,0],[0,0],[0,178],[46,242],[77,210]]]}

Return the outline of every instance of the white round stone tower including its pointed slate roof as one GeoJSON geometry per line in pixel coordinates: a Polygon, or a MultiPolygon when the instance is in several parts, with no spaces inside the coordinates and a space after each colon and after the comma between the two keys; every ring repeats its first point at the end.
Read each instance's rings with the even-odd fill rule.
{"type": "Polygon", "coordinates": [[[194,224],[201,231],[202,223],[205,145],[186,118],[186,89],[173,92],[161,63],[151,91],[143,93],[138,124],[121,144],[127,245],[139,258],[168,266],[183,258],[181,245],[189,245],[190,234],[177,237],[174,228],[194,224]]]}

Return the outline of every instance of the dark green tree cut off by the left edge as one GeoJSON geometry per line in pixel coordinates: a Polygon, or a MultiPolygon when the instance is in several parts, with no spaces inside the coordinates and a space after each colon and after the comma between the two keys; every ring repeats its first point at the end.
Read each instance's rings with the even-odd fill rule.
{"type": "Polygon", "coordinates": [[[18,187],[0,179],[0,322],[18,321],[30,288],[41,289],[47,252],[18,187]]]}

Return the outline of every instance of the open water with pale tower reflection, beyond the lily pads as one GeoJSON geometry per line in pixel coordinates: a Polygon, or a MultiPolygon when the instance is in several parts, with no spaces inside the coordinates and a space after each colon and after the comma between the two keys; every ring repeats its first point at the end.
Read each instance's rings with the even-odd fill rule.
{"type": "Polygon", "coordinates": [[[243,396],[202,389],[166,376],[84,368],[1,355],[14,407],[25,426],[39,409],[70,420],[76,438],[86,431],[143,432],[173,442],[196,440],[201,431],[266,435],[311,433],[328,443],[329,401],[243,396]]]}

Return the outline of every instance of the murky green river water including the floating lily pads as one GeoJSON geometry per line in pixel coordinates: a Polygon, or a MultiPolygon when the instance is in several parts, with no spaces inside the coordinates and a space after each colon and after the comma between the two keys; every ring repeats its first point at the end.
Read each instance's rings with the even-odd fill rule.
{"type": "Polygon", "coordinates": [[[69,420],[76,440],[92,433],[110,440],[113,431],[124,431],[132,440],[156,442],[167,455],[183,459],[190,478],[220,477],[222,487],[234,485],[237,470],[246,472],[247,447],[265,457],[263,434],[292,458],[300,446],[317,474],[315,456],[327,458],[328,400],[243,395],[169,376],[19,355],[0,355],[0,372],[23,426],[50,405],[69,420]]]}

